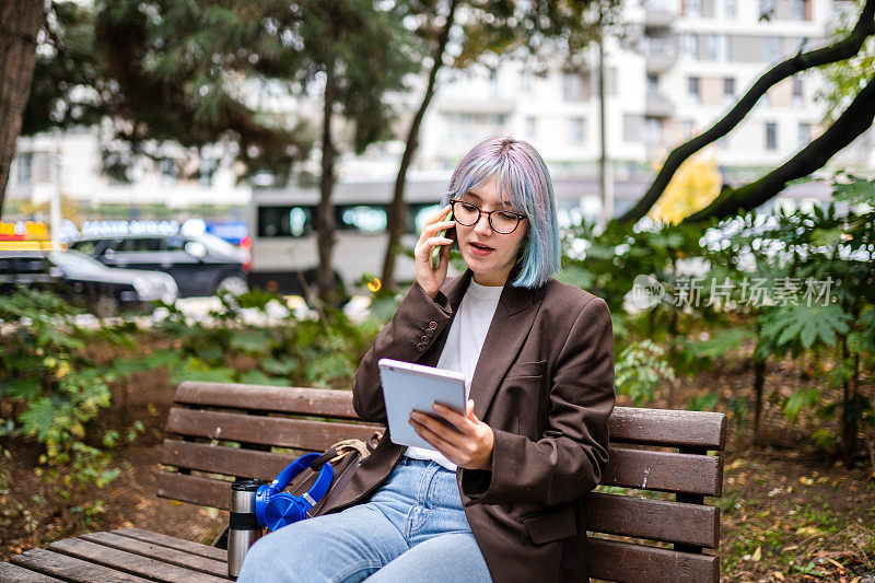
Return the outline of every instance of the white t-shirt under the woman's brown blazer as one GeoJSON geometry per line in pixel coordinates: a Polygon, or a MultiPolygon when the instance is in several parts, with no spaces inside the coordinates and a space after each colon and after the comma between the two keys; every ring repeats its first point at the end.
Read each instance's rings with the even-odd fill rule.
{"type": "MultiPolygon", "coordinates": [[[[438,368],[455,371],[465,375],[465,398],[470,392],[474,370],[483,348],[486,334],[495,314],[502,285],[480,285],[474,279],[465,290],[465,296],[458,306],[458,313],[453,318],[450,335],[438,360],[438,368]]],[[[424,447],[408,447],[407,457],[416,459],[431,459],[443,467],[455,471],[456,465],[443,454],[424,447]]]]}

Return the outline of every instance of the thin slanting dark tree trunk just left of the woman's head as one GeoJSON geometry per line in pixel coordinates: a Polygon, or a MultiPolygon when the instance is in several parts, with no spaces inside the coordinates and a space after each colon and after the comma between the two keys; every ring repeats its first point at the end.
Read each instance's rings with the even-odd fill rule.
{"type": "Polygon", "coordinates": [[[457,5],[458,0],[452,0],[450,2],[450,12],[438,36],[438,47],[434,49],[434,55],[432,56],[433,62],[431,71],[429,71],[429,83],[425,86],[425,94],[422,96],[419,109],[417,109],[413,120],[410,123],[410,129],[407,132],[407,143],[404,154],[401,155],[401,164],[398,167],[398,176],[395,178],[395,190],[388,215],[389,241],[386,245],[386,255],[383,258],[383,287],[387,290],[395,288],[395,256],[398,250],[398,244],[401,241],[401,235],[404,234],[404,225],[407,215],[407,210],[404,205],[404,188],[407,183],[407,170],[410,167],[410,163],[413,161],[413,154],[419,147],[419,129],[422,126],[422,118],[425,116],[425,110],[434,96],[438,71],[443,67],[446,44],[450,40],[450,30],[453,27],[456,18],[457,5]]]}

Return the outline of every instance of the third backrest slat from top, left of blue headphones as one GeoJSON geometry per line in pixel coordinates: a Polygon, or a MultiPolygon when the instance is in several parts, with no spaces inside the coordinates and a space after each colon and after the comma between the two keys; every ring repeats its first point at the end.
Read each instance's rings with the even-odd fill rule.
{"type": "Polygon", "coordinates": [[[270,452],[178,440],[164,440],[161,452],[161,463],[166,466],[261,480],[276,478],[292,459],[289,455],[270,452]]]}

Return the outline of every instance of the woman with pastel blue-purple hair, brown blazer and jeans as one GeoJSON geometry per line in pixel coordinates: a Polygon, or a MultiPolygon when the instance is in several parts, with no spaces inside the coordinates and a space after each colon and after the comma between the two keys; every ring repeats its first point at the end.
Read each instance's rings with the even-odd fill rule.
{"type": "Polygon", "coordinates": [[[460,372],[465,413],[434,407],[459,431],[413,413],[438,452],[384,436],[325,515],[258,540],[240,581],[588,581],[582,497],[607,464],[615,399],[607,304],[552,278],[556,202],[528,143],[478,143],[443,202],[352,390],[359,416],[385,423],[378,359],[460,372]],[[454,238],[468,269],[447,279],[454,238]]]}

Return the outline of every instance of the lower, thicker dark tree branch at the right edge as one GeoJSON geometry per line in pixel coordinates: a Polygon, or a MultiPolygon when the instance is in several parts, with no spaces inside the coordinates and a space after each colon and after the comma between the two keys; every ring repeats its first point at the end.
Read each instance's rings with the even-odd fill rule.
{"type": "Polygon", "coordinates": [[[796,155],[760,179],[725,188],[708,207],[687,217],[682,222],[693,223],[705,219],[722,219],[736,212],[756,209],[786,187],[786,183],[809,175],[824,167],[838,151],[854,141],[872,126],[875,118],[875,75],[856,94],[851,105],[819,138],[796,155]]]}

